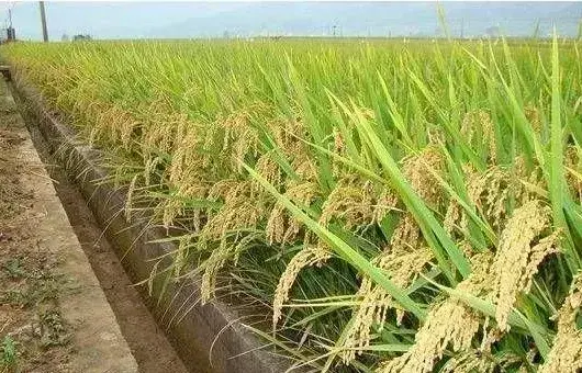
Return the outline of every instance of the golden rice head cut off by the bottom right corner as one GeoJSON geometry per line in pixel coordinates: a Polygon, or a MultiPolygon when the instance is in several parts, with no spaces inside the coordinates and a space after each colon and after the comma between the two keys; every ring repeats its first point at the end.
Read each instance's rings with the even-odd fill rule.
{"type": "Polygon", "coordinates": [[[540,373],[570,372],[582,370],[582,330],[577,318],[582,309],[582,275],[577,275],[570,294],[558,310],[558,332],[548,359],[540,366],[540,373]]]}

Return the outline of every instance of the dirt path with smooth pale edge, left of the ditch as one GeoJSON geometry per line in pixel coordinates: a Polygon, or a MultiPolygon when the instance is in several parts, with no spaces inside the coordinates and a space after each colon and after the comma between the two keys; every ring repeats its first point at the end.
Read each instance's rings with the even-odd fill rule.
{"type": "Polygon", "coordinates": [[[0,372],[137,364],[0,81],[0,372]]]}

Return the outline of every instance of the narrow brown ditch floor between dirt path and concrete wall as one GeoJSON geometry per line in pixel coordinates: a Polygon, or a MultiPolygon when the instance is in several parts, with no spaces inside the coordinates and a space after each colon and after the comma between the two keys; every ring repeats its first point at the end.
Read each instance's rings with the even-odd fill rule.
{"type": "Polygon", "coordinates": [[[107,299],[115,314],[121,331],[142,373],[189,372],[164,330],[159,328],[137,289],[123,269],[111,244],[103,235],[82,194],[52,157],[48,146],[30,117],[22,111],[34,146],[46,167],[81,247],[91,263],[107,299]]]}

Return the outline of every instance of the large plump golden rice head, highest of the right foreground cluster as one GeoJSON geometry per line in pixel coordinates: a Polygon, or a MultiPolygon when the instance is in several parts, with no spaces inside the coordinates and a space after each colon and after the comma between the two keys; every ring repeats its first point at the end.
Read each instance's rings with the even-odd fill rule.
{"type": "Polygon", "coordinates": [[[510,328],[507,317],[517,295],[528,291],[539,263],[557,250],[558,235],[544,238],[550,227],[550,216],[548,206],[540,201],[530,201],[513,212],[501,234],[492,274],[495,319],[502,330],[510,328]]]}

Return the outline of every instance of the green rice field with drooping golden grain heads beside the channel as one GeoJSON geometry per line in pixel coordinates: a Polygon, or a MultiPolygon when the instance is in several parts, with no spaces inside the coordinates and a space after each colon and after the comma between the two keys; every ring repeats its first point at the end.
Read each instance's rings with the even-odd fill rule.
{"type": "Polygon", "coordinates": [[[314,371],[582,369],[580,42],[18,43],[202,301],[314,371]]]}

